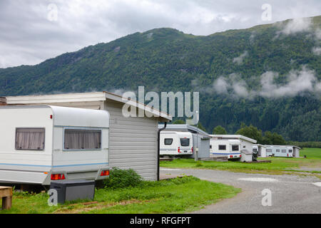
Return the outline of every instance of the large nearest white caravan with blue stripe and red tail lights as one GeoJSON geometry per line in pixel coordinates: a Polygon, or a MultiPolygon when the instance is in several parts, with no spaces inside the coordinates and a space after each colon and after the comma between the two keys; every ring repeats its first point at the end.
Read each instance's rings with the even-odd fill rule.
{"type": "Polygon", "coordinates": [[[0,108],[0,182],[103,180],[109,113],[49,105],[0,108]]]}

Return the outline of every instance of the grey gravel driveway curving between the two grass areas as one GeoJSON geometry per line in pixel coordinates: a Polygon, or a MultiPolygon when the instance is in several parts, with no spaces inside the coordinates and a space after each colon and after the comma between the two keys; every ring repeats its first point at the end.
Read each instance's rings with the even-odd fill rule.
{"type": "Polygon", "coordinates": [[[242,189],[232,199],[223,199],[193,213],[321,213],[321,180],[317,177],[161,168],[163,176],[182,174],[242,189]],[[263,190],[270,190],[271,206],[263,206],[263,190]]]}

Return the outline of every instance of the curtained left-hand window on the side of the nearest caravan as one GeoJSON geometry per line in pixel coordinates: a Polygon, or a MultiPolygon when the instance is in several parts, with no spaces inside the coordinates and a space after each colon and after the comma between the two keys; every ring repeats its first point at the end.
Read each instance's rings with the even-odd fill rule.
{"type": "Polygon", "coordinates": [[[16,150],[44,150],[44,128],[16,128],[16,150]]]}

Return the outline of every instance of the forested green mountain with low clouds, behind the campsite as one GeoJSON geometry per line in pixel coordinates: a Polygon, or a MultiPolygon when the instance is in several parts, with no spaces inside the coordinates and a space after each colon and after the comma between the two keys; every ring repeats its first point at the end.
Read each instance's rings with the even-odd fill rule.
{"type": "Polygon", "coordinates": [[[321,141],[321,16],[193,36],[133,33],[36,66],[0,69],[0,95],[200,91],[200,122],[321,141]]]}

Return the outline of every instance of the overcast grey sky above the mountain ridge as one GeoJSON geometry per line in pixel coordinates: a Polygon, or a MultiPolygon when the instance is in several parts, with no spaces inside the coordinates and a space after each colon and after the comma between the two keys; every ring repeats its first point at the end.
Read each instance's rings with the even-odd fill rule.
{"type": "Polygon", "coordinates": [[[152,28],[209,35],[317,15],[320,0],[0,0],[0,68],[152,28]]]}

